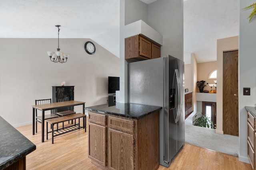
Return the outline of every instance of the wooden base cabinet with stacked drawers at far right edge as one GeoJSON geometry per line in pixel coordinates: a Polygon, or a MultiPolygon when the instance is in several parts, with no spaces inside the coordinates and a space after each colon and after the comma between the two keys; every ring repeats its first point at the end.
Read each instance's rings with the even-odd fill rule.
{"type": "Polygon", "coordinates": [[[255,129],[255,118],[250,113],[247,112],[247,154],[252,165],[252,169],[255,169],[255,141],[256,141],[256,129],[255,129]]]}

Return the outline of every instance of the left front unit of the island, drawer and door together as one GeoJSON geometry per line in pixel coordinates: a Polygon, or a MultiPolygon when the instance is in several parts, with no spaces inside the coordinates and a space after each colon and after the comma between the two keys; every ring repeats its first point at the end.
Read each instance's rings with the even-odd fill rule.
{"type": "Polygon", "coordinates": [[[88,113],[88,157],[106,166],[106,116],[88,113]]]}

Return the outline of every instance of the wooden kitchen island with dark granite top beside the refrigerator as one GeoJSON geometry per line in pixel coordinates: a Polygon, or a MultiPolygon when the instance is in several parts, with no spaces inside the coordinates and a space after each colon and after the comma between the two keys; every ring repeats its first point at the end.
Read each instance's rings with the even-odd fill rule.
{"type": "Polygon", "coordinates": [[[108,169],[159,168],[159,110],[141,104],[108,104],[88,110],[88,157],[108,169]]]}

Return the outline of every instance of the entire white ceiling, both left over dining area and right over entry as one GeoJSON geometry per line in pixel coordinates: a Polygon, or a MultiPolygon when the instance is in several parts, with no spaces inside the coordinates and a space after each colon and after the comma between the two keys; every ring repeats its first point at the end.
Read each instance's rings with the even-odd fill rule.
{"type": "MultiPolygon", "coordinates": [[[[60,38],[118,46],[119,8],[120,0],[0,0],[0,38],[57,38],[62,25],[60,38]]],[[[184,0],[185,64],[191,53],[198,63],[216,61],[217,39],[238,35],[238,12],[239,0],[184,0]]]]}

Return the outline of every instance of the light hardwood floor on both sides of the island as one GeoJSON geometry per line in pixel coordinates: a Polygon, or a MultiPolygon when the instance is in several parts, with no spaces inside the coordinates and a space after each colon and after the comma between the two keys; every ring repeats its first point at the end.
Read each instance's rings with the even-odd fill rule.
{"type": "MultiPolygon", "coordinates": [[[[88,122],[88,121],[87,121],[88,122]]],[[[41,128],[39,123],[39,129],[41,128]]],[[[88,124],[84,129],[72,131],[41,143],[40,130],[32,135],[32,125],[17,127],[18,131],[36,145],[26,157],[28,170],[100,170],[88,158],[88,124]]],[[[45,138],[46,139],[46,138],[45,138]]],[[[238,157],[185,144],[169,168],[158,170],[252,170],[250,164],[238,157]]]]}

